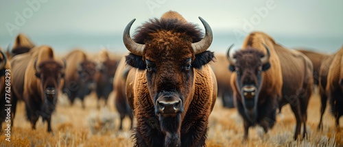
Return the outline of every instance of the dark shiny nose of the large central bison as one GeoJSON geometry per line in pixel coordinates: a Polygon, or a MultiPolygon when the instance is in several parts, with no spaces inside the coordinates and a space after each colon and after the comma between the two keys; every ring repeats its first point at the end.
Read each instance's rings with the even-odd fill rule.
{"type": "Polygon", "coordinates": [[[161,113],[178,113],[181,109],[181,101],[158,101],[157,108],[161,113]]]}

